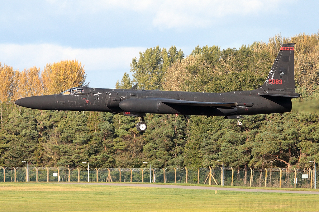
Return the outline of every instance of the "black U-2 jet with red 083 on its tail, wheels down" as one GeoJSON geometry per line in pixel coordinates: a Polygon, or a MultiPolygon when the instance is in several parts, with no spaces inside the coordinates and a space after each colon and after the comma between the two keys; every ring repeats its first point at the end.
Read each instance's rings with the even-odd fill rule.
{"type": "Polygon", "coordinates": [[[74,87],[62,93],[18,99],[15,104],[39,110],[101,111],[139,117],[136,128],[147,128],[146,113],[225,116],[290,112],[295,92],[294,45],[283,44],[265,83],[252,91],[223,93],[153,91],[74,87]]]}

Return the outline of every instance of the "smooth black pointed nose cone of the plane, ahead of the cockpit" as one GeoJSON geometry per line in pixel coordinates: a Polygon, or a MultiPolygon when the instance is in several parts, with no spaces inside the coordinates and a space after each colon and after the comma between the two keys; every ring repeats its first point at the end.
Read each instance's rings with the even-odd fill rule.
{"type": "Polygon", "coordinates": [[[53,95],[25,97],[16,100],[14,103],[32,109],[55,110],[55,98],[53,95]]]}

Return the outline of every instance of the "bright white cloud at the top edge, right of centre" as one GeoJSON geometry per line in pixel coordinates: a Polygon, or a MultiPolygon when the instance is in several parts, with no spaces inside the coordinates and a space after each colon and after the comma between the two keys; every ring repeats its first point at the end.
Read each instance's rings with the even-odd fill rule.
{"type": "Polygon", "coordinates": [[[223,18],[256,16],[261,12],[278,10],[279,0],[213,0],[213,1],[164,1],[153,17],[159,28],[204,28],[223,18]]]}

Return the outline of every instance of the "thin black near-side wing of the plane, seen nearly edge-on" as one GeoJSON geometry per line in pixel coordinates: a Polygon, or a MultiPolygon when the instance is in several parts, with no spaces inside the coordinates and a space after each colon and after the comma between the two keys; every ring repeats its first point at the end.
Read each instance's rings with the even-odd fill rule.
{"type": "Polygon", "coordinates": [[[202,106],[202,107],[222,107],[222,108],[232,108],[236,107],[236,102],[197,102],[197,101],[187,101],[179,99],[163,99],[156,98],[166,105],[184,105],[184,106],[202,106]]]}

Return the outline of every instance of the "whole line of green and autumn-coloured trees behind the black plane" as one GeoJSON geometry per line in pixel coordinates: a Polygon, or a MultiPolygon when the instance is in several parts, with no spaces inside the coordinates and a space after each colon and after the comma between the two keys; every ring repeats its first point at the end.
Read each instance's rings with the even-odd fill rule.
{"type": "Polygon", "coordinates": [[[263,84],[283,43],[296,43],[296,92],[293,112],[245,116],[241,127],[224,117],[147,114],[148,130],[137,118],[103,112],[45,111],[22,108],[14,100],[85,86],[76,60],[33,67],[22,72],[0,64],[0,164],[35,166],[139,168],[225,166],[307,168],[319,159],[319,33],[239,49],[197,46],[190,55],[172,46],[146,49],[133,58],[130,71],[115,87],[129,89],[228,92],[263,84]]]}

